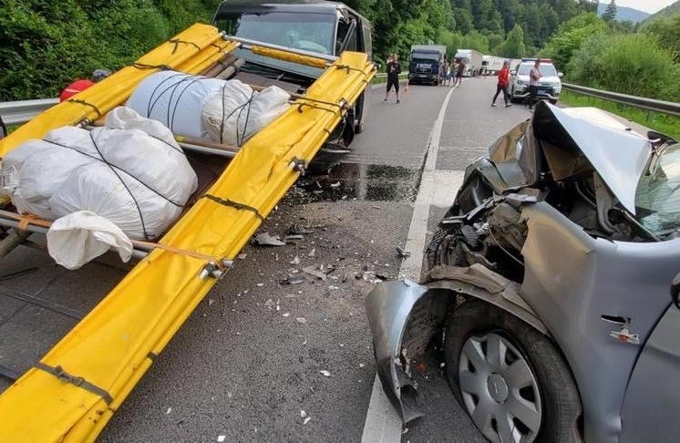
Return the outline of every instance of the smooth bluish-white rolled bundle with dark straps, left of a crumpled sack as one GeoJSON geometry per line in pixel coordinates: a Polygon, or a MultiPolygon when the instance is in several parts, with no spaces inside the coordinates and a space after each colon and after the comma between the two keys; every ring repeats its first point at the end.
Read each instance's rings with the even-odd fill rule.
{"type": "Polygon", "coordinates": [[[224,83],[216,78],[161,71],[139,83],[127,106],[142,117],[160,121],[175,134],[204,139],[208,134],[201,122],[203,105],[224,83]]]}

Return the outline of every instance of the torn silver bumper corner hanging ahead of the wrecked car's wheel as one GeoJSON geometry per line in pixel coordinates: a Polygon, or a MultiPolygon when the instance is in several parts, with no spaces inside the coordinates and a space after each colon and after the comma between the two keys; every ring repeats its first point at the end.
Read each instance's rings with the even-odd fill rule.
{"type": "Polygon", "coordinates": [[[428,287],[408,280],[386,282],[377,284],[366,298],[377,375],[404,423],[423,416],[417,406],[417,390],[407,375],[408,362],[401,353],[401,342],[414,306],[428,291],[428,287]]]}

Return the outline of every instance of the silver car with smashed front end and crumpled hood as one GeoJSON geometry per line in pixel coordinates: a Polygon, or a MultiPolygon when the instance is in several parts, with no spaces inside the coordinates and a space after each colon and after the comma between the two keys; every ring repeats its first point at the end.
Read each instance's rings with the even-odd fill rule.
{"type": "Polygon", "coordinates": [[[490,441],[677,439],[675,140],[541,102],[469,166],[439,228],[422,283],[382,283],[366,300],[405,422],[427,401],[409,368],[438,344],[490,441]]]}

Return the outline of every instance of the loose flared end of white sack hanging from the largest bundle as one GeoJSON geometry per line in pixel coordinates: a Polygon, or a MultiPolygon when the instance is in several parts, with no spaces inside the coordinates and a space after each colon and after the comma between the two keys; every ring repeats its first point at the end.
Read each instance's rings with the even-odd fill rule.
{"type": "Polygon", "coordinates": [[[132,256],[132,242],[111,221],[94,212],[78,211],[57,219],[47,231],[47,251],[67,269],[78,269],[114,249],[120,260],[132,256]]]}

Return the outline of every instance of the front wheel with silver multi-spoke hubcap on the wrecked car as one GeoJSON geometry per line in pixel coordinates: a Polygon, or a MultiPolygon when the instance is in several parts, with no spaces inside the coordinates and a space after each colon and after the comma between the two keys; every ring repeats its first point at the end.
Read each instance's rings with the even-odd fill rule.
{"type": "Polygon", "coordinates": [[[577,441],[581,400],[551,340],[500,308],[471,300],[446,332],[448,383],[493,442],[577,441]]]}

